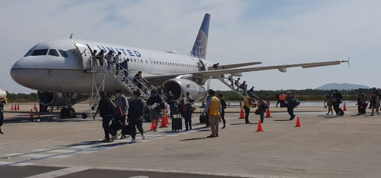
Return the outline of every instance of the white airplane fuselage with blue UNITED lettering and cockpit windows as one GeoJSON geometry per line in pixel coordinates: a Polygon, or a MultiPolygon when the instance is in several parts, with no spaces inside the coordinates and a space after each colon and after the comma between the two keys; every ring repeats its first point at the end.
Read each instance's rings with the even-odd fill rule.
{"type": "MultiPolygon", "coordinates": [[[[29,55],[26,54],[13,65],[11,76],[13,80],[25,87],[54,93],[91,92],[92,73],[85,72],[84,69],[90,66],[89,60],[84,57],[86,52],[87,56],[91,55],[90,50],[97,50],[99,53],[101,49],[104,49],[104,55],[110,50],[115,51],[115,54],[120,51],[122,58],[130,58],[129,67],[134,71],[131,71],[129,77],[133,77],[137,71],[142,71],[145,77],[200,71],[200,63],[205,64],[205,69],[212,66],[211,62],[188,55],[87,40],[53,40],[42,42],[31,48],[31,50],[38,49],[47,49],[47,52],[44,54],[42,50],[42,53],[32,53],[32,55],[29,52],[29,55]],[[78,46],[87,48],[87,51],[81,51],[82,48],[78,46]],[[54,50],[58,52],[54,53],[54,50]],[[65,51],[67,55],[62,51],[65,51]]],[[[96,74],[95,78],[97,84],[100,84],[103,73],[96,74]]],[[[154,85],[161,84],[155,81],[150,82],[154,85]]],[[[114,92],[118,88],[121,88],[120,84],[110,75],[106,75],[105,91],[114,92]]]]}

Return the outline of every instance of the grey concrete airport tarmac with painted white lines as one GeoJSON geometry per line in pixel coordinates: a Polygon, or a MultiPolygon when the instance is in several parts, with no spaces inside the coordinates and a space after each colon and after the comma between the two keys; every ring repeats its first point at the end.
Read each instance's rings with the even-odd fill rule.
{"type": "MultiPolygon", "coordinates": [[[[322,104],[323,105],[323,104],[322,104]]],[[[102,142],[101,118],[82,119],[88,104],[77,104],[77,118],[59,119],[59,110],[29,121],[33,104],[20,110],[5,106],[0,135],[0,177],[380,177],[381,115],[327,116],[322,107],[295,109],[302,127],[289,121],[286,108],[271,107],[271,116],[256,132],[259,115],[239,119],[228,108],[227,128],[207,138],[210,129],[193,114],[193,130],[149,131],[146,139],[102,142]]],[[[367,110],[369,111],[369,110],[367,110]]],[[[36,117],[36,116],[35,116],[36,117]]],[[[171,123],[171,120],[170,120],[171,123]]],[[[184,123],[183,123],[184,124],[184,123]]],[[[183,126],[184,129],[184,126],[183,126]]]]}

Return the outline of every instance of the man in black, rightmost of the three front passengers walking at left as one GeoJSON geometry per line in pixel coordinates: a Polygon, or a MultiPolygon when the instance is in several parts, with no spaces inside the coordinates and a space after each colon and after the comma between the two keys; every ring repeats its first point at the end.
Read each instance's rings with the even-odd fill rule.
{"type": "Polygon", "coordinates": [[[129,129],[131,132],[132,140],[130,143],[136,142],[136,129],[139,130],[142,139],[145,139],[144,130],[143,130],[143,109],[144,104],[140,99],[140,92],[134,91],[132,95],[132,100],[129,104],[128,110],[128,119],[129,119],[129,129]]]}

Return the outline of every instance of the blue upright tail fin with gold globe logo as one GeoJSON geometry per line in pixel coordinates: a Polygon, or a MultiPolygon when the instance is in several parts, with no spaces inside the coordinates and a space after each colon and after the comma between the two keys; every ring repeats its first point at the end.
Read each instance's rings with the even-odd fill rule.
{"type": "Polygon", "coordinates": [[[199,34],[196,37],[195,44],[193,45],[192,51],[189,53],[190,56],[199,57],[205,60],[206,46],[208,43],[209,21],[210,14],[205,14],[204,20],[201,23],[199,34]]]}

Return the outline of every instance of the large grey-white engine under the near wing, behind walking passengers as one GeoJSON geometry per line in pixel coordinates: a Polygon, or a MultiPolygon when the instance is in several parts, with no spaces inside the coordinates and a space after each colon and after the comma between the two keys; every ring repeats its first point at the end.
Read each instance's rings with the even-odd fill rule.
{"type": "Polygon", "coordinates": [[[175,96],[175,100],[180,99],[186,92],[189,92],[190,96],[192,96],[195,101],[203,99],[206,95],[204,86],[188,79],[172,78],[165,81],[163,85],[163,92],[168,93],[171,91],[175,96]]]}

